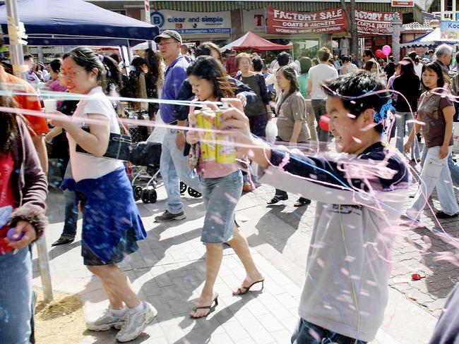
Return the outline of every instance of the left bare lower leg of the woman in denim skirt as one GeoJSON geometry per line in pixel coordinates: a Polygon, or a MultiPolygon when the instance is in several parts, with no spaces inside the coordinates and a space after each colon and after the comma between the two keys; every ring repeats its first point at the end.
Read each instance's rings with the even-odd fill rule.
{"type": "MultiPolygon", "coordinates": [[[[213,286],[217,279],[220,265],[222,264],[223,258],[223,247],[222,244],[205,244],[205,283],[201,297],[199,297],[196,307],[205,307],[212,305],[215,299],[213,293],[213,286]]],[[[209,314],[210,309],[196,309],[196,311],[190,312],[190,316],[193,318],[205,317],[209,314]]]]}

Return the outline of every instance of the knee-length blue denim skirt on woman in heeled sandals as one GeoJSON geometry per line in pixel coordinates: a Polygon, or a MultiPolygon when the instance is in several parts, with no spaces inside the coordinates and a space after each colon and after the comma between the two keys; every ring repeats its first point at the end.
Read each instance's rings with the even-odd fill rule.
{"type": "Polygon", "coordinates": [[[208,244],[233,238],[234,210],[242,193],[240,170],[219,178],[203,178],[205,219],[201,241],[208,244]]]}

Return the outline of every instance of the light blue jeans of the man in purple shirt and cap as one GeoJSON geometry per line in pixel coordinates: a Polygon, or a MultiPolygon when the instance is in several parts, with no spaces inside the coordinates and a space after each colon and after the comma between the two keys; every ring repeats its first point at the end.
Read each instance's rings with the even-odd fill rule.
{"type": "Polygon", "coordinates": [[[177,130],[167,129],[162,140],[160,172],[167,192],[166,209],[171,214],[183,211],[184,204],[180,199],[180,180],[190,188],[201,192],[199,176],[186,166],[186,156],[182,149],[177,149],[175,137],[177,130]]]}

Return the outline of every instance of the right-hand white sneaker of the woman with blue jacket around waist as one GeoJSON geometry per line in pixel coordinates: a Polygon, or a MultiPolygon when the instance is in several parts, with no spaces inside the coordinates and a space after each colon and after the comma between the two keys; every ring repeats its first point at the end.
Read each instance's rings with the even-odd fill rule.
{"type": "Polygon", "coordinates": [[[126,312],[126,323],[117,333],[119,342],[129,342],[141,335],[145,326],[155,319],[157,310],[149,302],[142,301],[144,309],[140,313],[134,313],[131,310],[126,312]]]}

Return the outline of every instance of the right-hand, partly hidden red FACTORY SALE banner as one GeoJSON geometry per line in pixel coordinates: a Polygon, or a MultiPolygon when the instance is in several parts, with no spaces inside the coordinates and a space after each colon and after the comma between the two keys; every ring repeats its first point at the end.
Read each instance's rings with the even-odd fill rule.
{"type": "Polygon", "coordinates": [[[398,12],[355,11],[357,32],[360,35],[392,35],[392,20],[400,18],[398,12]]]}

